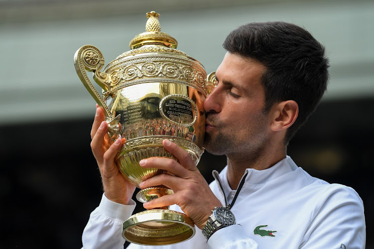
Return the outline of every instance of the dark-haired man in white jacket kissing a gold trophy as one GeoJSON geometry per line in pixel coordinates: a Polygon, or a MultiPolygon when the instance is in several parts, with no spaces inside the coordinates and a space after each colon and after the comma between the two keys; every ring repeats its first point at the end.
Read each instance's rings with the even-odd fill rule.
{"type": "MultiPolygon", "coordinates": [[[[208,186],[187,152],[168,140],[165,148],[180,163],[168,158],[140,162],[174,174],[141,183],[142,188],[164,184],[175,193],[144,207],[177,204],[198,228],[191,240],[165,248],[365,248],[364,207],[358,194],[311,177],[286,154],[289,140],[326,90],[324,47],[305,29],[284,22],[240,26],[223,47],[227,53],[216,71],[218,84],[204,101],[204,146],[212,154],[226,155],[227,166],[208,186]],[[240,225],[205,227],[212,222],[211,211],[226,204],[231,209],[223,209],[224,217],[232,212],[240,225]]],[[[134,186],[114,163],[123,140],[108,146],[103,120],[97,109],[91,147],[105,194],[84,230],[85,249],[122,248],[121,226],[135,205],[134,186]]]]}

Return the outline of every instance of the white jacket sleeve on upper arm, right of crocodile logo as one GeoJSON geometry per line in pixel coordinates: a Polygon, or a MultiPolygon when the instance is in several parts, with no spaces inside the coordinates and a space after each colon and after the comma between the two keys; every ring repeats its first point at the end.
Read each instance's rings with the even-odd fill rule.
{"type": "Polygon", "coordinates": [[[364,249],[366,226],[364,204],[356,191],[332,184],[332,191],[308,227],[300,249],[364,249]]]}

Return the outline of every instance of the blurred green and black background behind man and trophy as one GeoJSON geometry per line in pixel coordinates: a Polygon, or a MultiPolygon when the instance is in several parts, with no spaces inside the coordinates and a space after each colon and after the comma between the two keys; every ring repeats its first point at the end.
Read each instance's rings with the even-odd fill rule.
{"type": "MultiPolygon", "coordinates": [[[[214,71],[238,25],[282,20],[326,46],[331,80],[288,154],[311,175],[353,187],[364,201],[374,248],[374,1],[369,0],[0,0],[0,248],[80,248],[101,182],[90,150],[95,103],[73,56],[85,44],[106,64],[160,13],[178,49],[214,71]]],[[[224,156],[204,153],[199,169],[224,156]]],[[[141,209],[141,205],[138,207],[141,209]]]]}

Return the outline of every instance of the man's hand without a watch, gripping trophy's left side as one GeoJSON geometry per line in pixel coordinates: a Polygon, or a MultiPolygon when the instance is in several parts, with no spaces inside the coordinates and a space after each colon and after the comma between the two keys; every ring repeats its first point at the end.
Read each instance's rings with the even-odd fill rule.
{"type": "Polygon", "coordinates": [[[104,113],[96,105],[96,115],[91,129],[91,148],[99,165],[105,196],[117,203],[128,204],[135,191],[135,185],[127,181],[120,173],[114,157],[126,142],[125,138],[118,138],[109,145],[106,133],[108,124],[104,121],[104,113]]]}

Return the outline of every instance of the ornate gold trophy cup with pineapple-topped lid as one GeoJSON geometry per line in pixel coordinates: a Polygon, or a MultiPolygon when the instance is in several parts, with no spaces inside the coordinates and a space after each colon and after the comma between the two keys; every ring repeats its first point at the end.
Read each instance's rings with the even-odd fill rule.
{"type": "MultiPolygon", "coordinates": [[[[131,50],[103,71],[104,57],[95,46],[85,45],[74,55],[79,78],[104,110],[110,142],[118,136],[127,139],[116,162],[123,176],[137,187],[150,177],[169,173],[139,166],[141,159],[154,156],[176,160],[162,145],[166,138],[186,149],[197,165],[203,152],[203,100],[208,92],[204,67],[177,50],[175,38],[161,32],[158,13],[149,12],[147,17],[146,32],[135,36],[131,50]],[[102,95],[86,71],[93,72],[102,95]]],[[[155,186],[142,189],[137,199],[144,203],[172,193],[165,186],[155,186]]],[[[140,245],[176,244],[194,233],[191,219],[169,207],[137,213],[124,222],[122,230],[123,238],[140,245]]]]}

